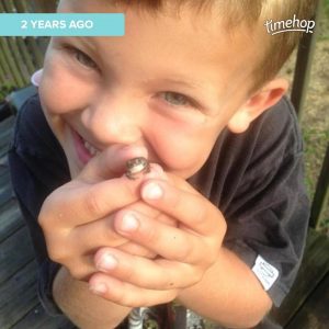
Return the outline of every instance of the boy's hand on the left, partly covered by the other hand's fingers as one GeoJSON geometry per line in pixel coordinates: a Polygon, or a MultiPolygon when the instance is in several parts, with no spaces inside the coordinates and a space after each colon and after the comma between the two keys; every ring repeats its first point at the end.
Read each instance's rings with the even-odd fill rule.
{"type": "MultiPolygon", "coordinates": [[[[111,147],[45,200],[38,223],[48,254],[75,279],[88,280],[95,271],[93,254],[104,246],[155,257],[147,248],[118,235],[113,227],[113,216],[123,207],[150,216],[159,213],[140,200],[141,179],[129,180],[123,174],[126,160],[141,156],[147,157],[144,148],[111,147]]],[[[149,175],[159,175],[159,168],[152,168],[149,175]]]]}

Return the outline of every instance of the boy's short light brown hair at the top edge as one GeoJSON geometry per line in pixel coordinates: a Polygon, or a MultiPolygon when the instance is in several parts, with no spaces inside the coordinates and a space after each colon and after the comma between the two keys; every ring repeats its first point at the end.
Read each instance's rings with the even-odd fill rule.
{"type": "Polygon", "coordinates": [[[270,35],[264,26],[265,21],[285,21],[294,15],[298,20],[311,20],[317,0],[111,0],[117,5],[138,7],[151,12],[159,12],[166,5],[179,10],[182,5],[189,5],[197,12],[202,10],[217,9],[223,13],[220,19],[228,29],[245,24],[250,29],[257,29],[263,35],[263,44],[258,45],[262,53],[261,60],[254,68],[253,89],[260,88],[271,80],[287,60],[303,33],[290,32],[270,35]]]}

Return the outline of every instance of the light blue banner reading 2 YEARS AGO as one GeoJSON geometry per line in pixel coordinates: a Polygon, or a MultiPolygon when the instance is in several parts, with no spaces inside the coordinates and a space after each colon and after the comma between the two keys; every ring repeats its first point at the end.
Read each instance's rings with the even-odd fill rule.
{"type": "Polygon", "coordinates": [[[123,13],[0,13],[0,36],[123,36],[123,13]]]}

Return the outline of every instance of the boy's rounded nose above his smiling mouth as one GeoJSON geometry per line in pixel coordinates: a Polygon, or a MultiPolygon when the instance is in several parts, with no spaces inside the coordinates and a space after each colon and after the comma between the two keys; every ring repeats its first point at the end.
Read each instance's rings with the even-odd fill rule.
{"type": "Polygon", "coordinates": [[[83,111],[82,123],[99,143],[129,145],[141,138],[143,111],[127,95],[105,95],[83,111]]]}

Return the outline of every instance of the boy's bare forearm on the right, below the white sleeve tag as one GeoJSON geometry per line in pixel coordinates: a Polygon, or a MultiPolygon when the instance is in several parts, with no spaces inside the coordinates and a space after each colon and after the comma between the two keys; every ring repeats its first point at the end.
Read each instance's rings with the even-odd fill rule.
{"type": "Polygon", "coordinates": [[[251,270],[224,248],[203,280],[183,290],[178,299],[197,314],[231,328],[254,327],[272,306],[251,270]]]}

